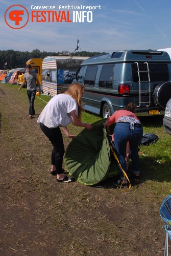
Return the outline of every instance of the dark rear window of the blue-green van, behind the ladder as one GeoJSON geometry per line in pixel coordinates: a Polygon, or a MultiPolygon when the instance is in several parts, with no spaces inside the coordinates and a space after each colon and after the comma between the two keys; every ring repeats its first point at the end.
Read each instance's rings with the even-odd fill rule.
{"type": "MultiPolygon", "coordinates": [[[[148,69],[147,65],[144,63],[139,63],[139,75],[140,81],[148,81],[148,69]]],[[[164,63],[149,63],[149,71],[150,71],[150,80],[152,82],[158,81],[168,81],[169,80],[169,73],[168,73],[168,66],[164,63]]],[[[138,68],[137,64],[134,63],[132,65],[132,73],[133,73],[133,81],[138,82],[138,68]]]]}

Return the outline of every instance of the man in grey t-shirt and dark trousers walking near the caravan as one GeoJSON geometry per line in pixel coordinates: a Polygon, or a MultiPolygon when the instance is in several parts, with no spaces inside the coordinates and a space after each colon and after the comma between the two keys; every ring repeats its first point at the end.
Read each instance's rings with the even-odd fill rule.
{"type": "Polygon", "coordinates": [[[37,81],[37,85],[39,87],[40,94],[41,94],[41,89],[40,89],[39,79],[37,78],[36,73],[32,72],[32,66],[30,64],[27,65],[26,70],[27,70],[27,72],[25,73],[24,80],[21,83],[21,86],[18,88],[18,91],[20,91],[21,88],[27,82],[27,94],[28,94],[29,103],[30,103],[29,117],[32,118],[33,115],[35,115],[34,100],[35,100],[36,90],[37,90],[36,81],[37,81]]]}

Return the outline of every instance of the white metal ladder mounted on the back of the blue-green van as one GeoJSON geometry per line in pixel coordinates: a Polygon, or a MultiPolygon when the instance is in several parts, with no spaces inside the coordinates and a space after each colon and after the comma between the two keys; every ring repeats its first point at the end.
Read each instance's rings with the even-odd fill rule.
{"type": "Polygon", "coordinates": [[[135,62],[135,64],[137,65],[137,72],[138,72],[138,82],[139,82],[139,105],[137,106],[137,108],[139,108],[139,106],[141,104],[146,103],[146,106],[150,106],[151,103],[151,80],[150,80],[150,70],[149,70],[149,64],[148,62],[144,62],[143,64],[146,65],[146,69],[147,70],[139,70],[139,63],[135,62]],[[141,73],[148,73],[148,80],[144,81],[140,79],[140,74],[141,73]],[[149,82],[149,88],[148,90],[142,90],[141,89],[141,84],[145,83],[145,82],[149,82]],[[141,94],[148,94],[149,95],[149,101],[141,101],[141,94]]]}

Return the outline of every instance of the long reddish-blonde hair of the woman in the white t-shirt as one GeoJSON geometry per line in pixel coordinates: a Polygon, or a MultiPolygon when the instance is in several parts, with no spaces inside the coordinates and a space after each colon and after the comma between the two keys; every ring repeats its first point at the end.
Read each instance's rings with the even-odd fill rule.
{"type": "Polygon", "coordinates": [[[75,82],[72,83],[69,89],[64,92],[65,94],[69,94],[72,98],[74,98],[77,101],[78,104],[78,119],[81,121],[81,112],[85,111],[82,107],[82,100],[81,100],[81,93],[84,91],[84,86],[79,83],[75,82]]]}

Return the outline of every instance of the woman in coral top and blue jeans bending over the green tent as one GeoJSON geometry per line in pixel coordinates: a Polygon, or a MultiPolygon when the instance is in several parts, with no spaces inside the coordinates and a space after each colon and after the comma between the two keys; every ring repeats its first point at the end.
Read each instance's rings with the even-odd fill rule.
{"type": "MultiPolygon", "coordinates": [[[[116,122],[116,126],[113,132],[114,144],[116,148],[117,158],[127,174],[127,162],[126,162],[126,147],[129,141],[132,166],[133,166],[133,176],[134,180],[139,180],[139,155],[138,155],[138,146],[141,143],[142,139],[142,125],[138,117],[134,114],[135,105],[129,103],[123,110],[115,111],[115,113],[108,118],[104,123],[104,126],[109,126],[116,122]]],[[[123,188],[128,188],[129,184],[127,179],[124,180],[124,173],[119,168],[120,171],[120,180],[113,182],[116,187],[122,186],[123,188]]]]}

